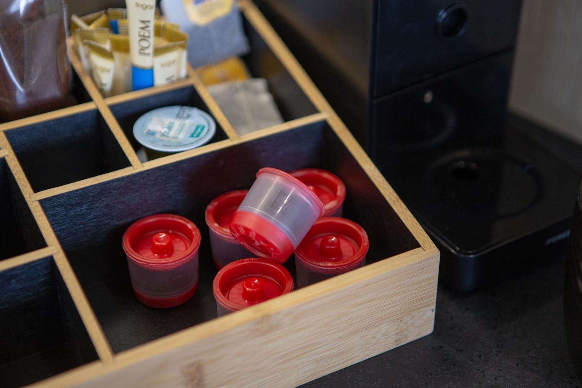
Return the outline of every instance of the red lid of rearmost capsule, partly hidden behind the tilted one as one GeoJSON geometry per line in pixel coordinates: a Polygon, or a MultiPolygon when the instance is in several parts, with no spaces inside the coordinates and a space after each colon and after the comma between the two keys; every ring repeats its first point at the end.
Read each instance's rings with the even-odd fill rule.
{"type": "Polygon", "coordinates": [[[306,184],[317,195],[324,204],[324,216],[335,214],[346,199],[346,185],[342,179],[329,171],[320,168],[301,168],[289,174],[306,184]]]}

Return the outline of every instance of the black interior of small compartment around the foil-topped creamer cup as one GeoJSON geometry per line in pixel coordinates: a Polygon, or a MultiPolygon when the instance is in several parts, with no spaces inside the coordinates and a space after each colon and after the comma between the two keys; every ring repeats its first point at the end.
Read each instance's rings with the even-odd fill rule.
{"type": "MultiPolygon", "coordinates": [[[[192,86],[186,86],[180,89],[152,94],[150,96],[139,98],[138,100],[130,100],[119,104],[111,104],[109,105],[109,108],[119,122],[123,132],[125,132],[127,139],[129,139],[130,143],[132,143],[133,149],[137,150],[141,147],[141,144],[138,143],[136,138],[133,136],[133,124],[135,124],[141,115],[144,115],[151,110],[162,107],[170,107],[172,105],[195,107],[207,112],[212,116],[210,110],[208,110],[208,107],[206,104],[204,104],[204,101],[202,98],[200,98],[200,95],[198,95],[192,86]]],[[[212,118],[214,119],[214,117],[212,118]]],[[[217,125],[217,130],[209,143],[228,139],[228,136],[226,136],[226,133],[222,130],[222,127],[218,124],[216,119],[214,122],[217,125]]]]}

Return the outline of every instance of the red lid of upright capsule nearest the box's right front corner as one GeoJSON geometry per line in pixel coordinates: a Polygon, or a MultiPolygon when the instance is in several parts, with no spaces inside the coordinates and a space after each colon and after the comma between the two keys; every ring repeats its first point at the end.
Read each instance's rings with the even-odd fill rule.
{"type": "Polygon", "coordinates": [[[297,247],[295,255],[317,272],[347,271],[357,267],[368,252],[370,242],[364,229],[340,217],[322,217],[297,247]]]}

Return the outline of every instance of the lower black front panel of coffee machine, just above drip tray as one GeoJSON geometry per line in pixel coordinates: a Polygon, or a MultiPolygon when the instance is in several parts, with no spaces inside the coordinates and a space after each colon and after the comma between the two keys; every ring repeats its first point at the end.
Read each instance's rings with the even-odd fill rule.
{"type": "Polygon", "coordinates": [[[368,152],[389,181],[403,158],[420,163],[457,147],[498,144],[503,135],[512,52],[372,101],[368,152]],[[478,93],[475,93],[478,91],[478,93]]]}

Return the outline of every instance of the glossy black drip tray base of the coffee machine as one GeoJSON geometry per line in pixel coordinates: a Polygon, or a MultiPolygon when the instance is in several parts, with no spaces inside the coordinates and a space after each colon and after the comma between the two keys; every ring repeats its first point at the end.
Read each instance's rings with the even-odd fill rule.
{"type": "Polygon", "coordinates": [[[498,144],[400,154],[381,167],[440,245],[441,277],[458,290],[547,257],[568,236],[582,173],[512,125],[522,119],[508,122],[498,144]]]}

